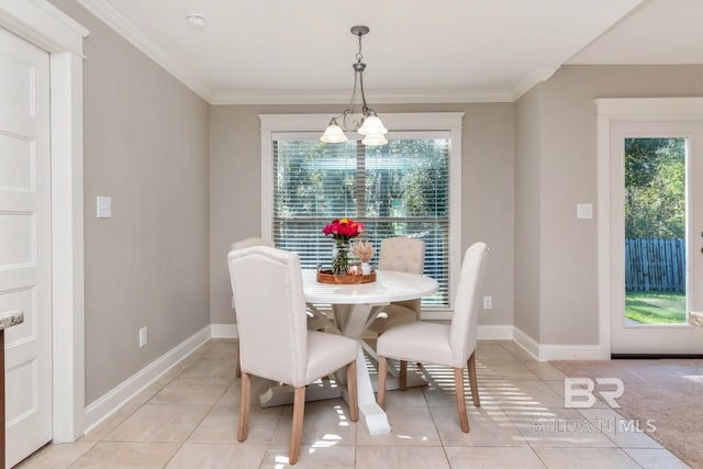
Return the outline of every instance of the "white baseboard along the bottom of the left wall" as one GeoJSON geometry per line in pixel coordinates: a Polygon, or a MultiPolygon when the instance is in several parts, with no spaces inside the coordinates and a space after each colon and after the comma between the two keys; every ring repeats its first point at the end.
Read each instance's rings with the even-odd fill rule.
{"type": "Polygon", "coordinates": [[[210,326],[201,328],[169,351],[122,381],[86,407],[86,433],[90,432],[143,389],[156,381],[210,339],[210,326]]]}

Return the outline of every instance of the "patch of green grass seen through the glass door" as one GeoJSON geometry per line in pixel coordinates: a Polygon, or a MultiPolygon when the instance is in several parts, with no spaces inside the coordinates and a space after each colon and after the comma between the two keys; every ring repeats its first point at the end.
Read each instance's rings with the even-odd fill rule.
{"type": "Polygon", "coordinates": [[[685,294],[626,292],[625,317],[641,324],[684,324],[685,294]]]}

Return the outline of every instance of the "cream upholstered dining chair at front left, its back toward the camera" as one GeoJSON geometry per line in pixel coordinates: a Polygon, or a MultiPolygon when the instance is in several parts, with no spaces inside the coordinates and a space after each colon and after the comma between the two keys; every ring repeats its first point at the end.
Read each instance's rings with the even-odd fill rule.
{"type": "Polygon", "coordinates": [[[233,249],[227,255],[239,325],[242,397],[237,440],[247,437],[250,376],[294,388],[289,464],[300,457],[305,386],[347,368],[349,418],[358,420],[356,358],[349,337],[309,331],[300,260],[268,246],[233,249]]]}

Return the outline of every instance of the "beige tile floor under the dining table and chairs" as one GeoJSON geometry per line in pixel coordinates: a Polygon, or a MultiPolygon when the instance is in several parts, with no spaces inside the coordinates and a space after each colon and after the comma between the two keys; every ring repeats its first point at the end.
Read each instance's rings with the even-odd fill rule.
{"type": "MultiPolygon", "coordinates": [[[[281,468],[290,405],[253,399],[249,436],[237,443],[236,342],[212,339],[78,442],[49,445],[19,467],[281,468]]],[[[370,436],[337,400],[309,402],[299,468],[684,468],[613,410],[563,406],[563,375],[512,342],[480,342],[481,407],[459,429],[453,373],[426,367],[429,383],[387,394],[389,435],[370,436]]],[[[270,386],[253,380],[253,397],[270,386]]]]}

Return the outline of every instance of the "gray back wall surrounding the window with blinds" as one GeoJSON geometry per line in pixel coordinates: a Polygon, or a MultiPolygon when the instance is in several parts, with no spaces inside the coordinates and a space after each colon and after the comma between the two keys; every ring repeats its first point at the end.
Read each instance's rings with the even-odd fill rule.
{"type": "MultiPolygon", "coordinates": [[[[342,105],[214,105],[210,110],[211,321],[234,322],[226,253],[233,241],[260,235],[259,114],[338,113],[342,105]]],[[[375,107],[383,112],[465,112],[462,132],[462,252],[476,241],[491,247],[486,294],[493,310],[481,324],[513,323],[513,104],[375,107]]],[[[321,132],[323,129],[321,129],[321,132]]]]}

